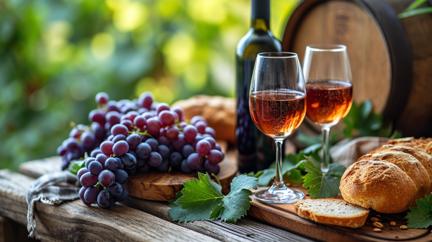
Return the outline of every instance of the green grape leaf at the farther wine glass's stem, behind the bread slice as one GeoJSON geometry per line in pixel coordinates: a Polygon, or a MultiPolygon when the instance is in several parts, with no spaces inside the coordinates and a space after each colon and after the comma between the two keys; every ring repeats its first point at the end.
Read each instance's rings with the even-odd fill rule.
{"type": "Polygon", "coordinates": [[[345,166],[337,163],[329,165],[327,173],[321,172],[321,165],[312,156],[305,156],[303,160],[306,174],[303,177],[303,187],[309,188],[308,194],[311,198],[336,197],[339,191],[340,178],[345,172],[345,166]]]}

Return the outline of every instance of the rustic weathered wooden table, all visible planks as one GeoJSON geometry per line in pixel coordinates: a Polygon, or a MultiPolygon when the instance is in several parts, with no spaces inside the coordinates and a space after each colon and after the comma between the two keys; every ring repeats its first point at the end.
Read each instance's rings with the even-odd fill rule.
{"type": "MultiPolygon", "coordinates": [[[[0,170],[0,242],[25,241],[25,195],[39,176],[60,167],[58,159],[22,163],[20,173],[0,170]]],[[[35,204],[35,235],[41,241],[224,241],[310,242],[302,236],[243,217],[237,224],[220,221],[172,222],[166,202],[128,196],[110,210],[81,201],[35,204]]]]}

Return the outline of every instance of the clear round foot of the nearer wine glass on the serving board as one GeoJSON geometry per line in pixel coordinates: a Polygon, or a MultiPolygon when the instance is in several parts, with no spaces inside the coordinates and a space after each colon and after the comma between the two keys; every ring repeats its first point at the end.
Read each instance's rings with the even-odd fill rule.
{"type": "Polygon", "coordinates": [[[266,203],[292,204],[296,201],[302,200],[303,197],[305,197],[305,194],[296,189],[289,189],[286,186],[283,186],[282,188],[272,186],[268,190],[260,189],[254,191],[254,197],[257,200],[266,203]]]}

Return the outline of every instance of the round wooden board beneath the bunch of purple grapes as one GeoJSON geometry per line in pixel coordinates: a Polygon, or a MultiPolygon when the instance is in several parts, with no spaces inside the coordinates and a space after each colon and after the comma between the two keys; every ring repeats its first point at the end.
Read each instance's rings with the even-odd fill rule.
{"type": "MultiPolygon", "coordinates": [[[[222,185],[223,194],[229,192],[232,178],[237,173],[237,164],[233,157],[235,156],[226,154],[225,159],[219,164],[220,172],[217,177],[222,185]]],[[[183,182],[192,178],[198,178],[198,173],[185,174],[177,171],[160,173],[151,171],[130,176],[127,184],[124,184],[123,187],[128,195],[134,197],[155,201],[170,201],[183,188],[183,182]]]]}

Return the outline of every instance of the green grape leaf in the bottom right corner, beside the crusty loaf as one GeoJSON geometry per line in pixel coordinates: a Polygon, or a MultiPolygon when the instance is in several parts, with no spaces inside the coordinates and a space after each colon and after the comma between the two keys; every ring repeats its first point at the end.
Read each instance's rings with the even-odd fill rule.
{"type": "Polygon", "coordinates": [[[410,207],[411,212],[405,216],[407,226],[414,229],[426,229],[432,225],[432,198],[425,196],[416,200],[417,207],[410,207]]]}

